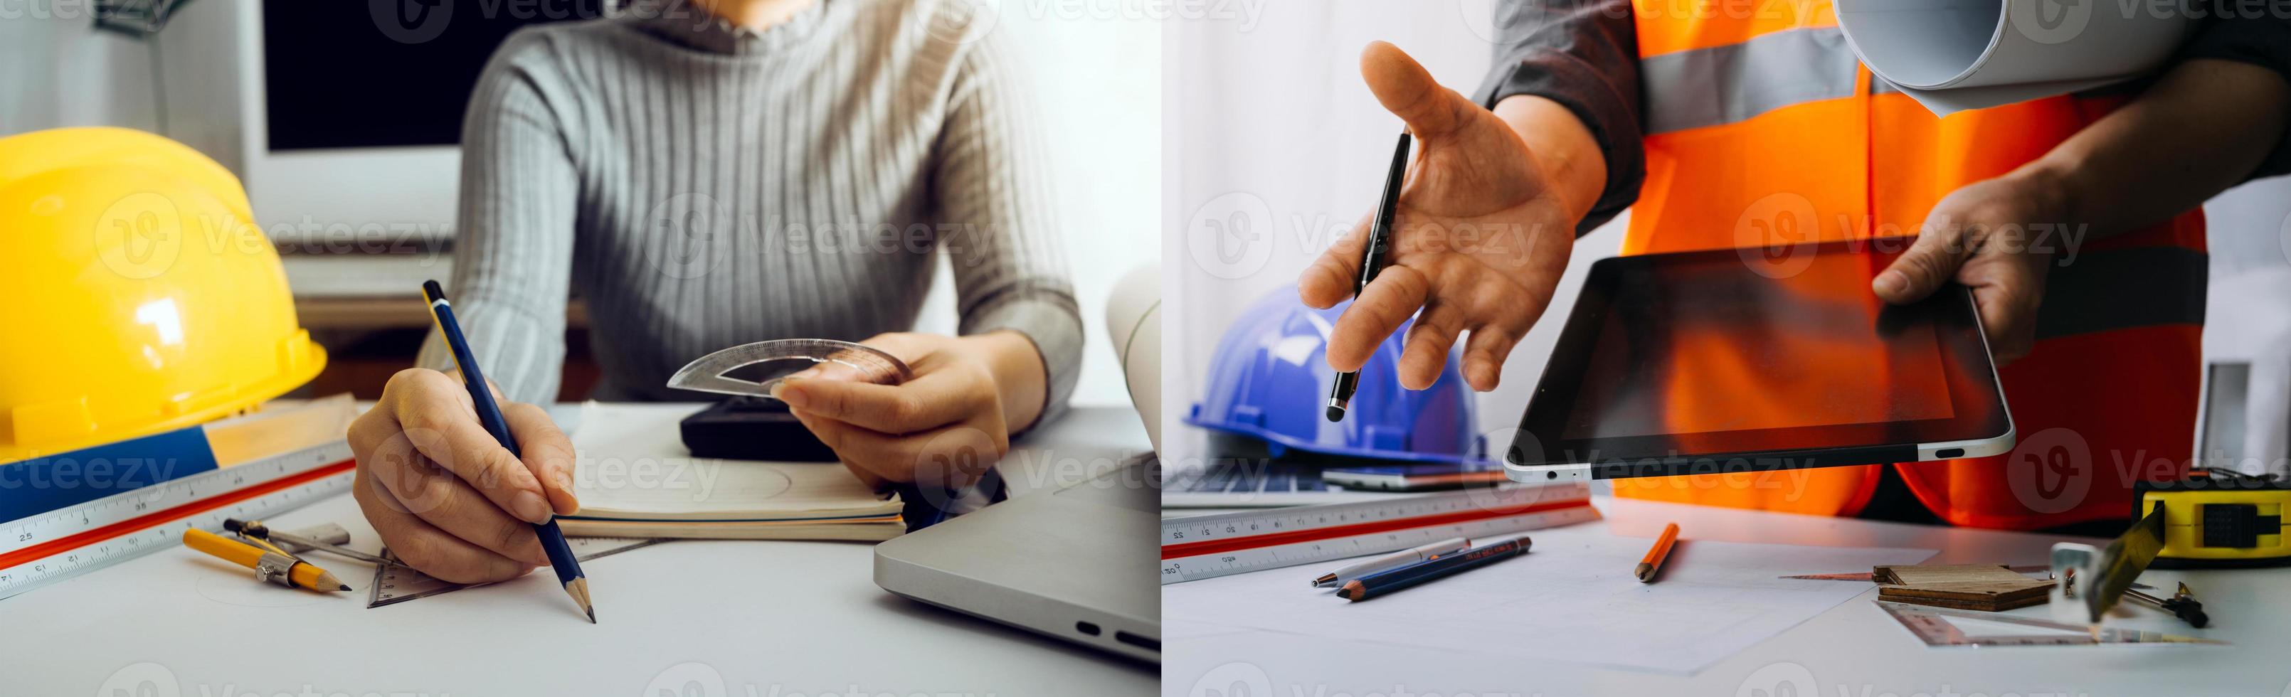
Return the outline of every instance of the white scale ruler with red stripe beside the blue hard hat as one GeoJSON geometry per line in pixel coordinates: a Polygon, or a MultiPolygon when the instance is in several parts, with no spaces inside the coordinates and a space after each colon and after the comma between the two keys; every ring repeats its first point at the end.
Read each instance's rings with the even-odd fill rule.
{"type": "Polygon", "coordinates": [[[1583,484],[1473,488],[1162,520],[1162,582],[1599,520],[1583,484]]]}

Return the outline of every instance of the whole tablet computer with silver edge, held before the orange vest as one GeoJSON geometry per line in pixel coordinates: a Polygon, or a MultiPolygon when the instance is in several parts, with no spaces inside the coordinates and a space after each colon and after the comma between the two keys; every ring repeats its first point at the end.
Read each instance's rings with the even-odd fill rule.
{"type": "Polygon", "coordinates": [[[2011,413],[1973,291],[1869,291],[1906,241],[1592,264],[1505,452],[1519,481],[2005,454],[2011,413]]]}

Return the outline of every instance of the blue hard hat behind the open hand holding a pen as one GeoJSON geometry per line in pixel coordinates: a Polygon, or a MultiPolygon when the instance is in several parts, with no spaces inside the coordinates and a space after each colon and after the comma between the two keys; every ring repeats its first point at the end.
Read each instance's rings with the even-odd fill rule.
{"type": "Polygon", "coordinates": [[[1336,381],[1326,360],[1329,328],[1349,305],[1306,307],[1297,287],[1251,305],[1217,342],[1210,385],[1184,422],[1260,438],[1272,456],[1301,449],[1418,463],[1485,461],[1487,440],[1475,431],[1471,390],[1452,353],[1432,387],[1400,387],[1400,344],[1414,316],[1361,367],[1361,387],[1345,420],[1326,420],[1329,385],[1336,381]]]}

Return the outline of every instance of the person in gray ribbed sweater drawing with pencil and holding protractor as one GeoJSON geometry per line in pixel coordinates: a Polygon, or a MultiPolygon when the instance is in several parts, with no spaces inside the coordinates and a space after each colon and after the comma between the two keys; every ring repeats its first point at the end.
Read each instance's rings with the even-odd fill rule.
{"type": "Polygon", "coordinates": [[[442,374],[435,332],[351,426],[360,507],[431,575],[548,564],[525,523],[577,509],[573,445],[532,406],[557,397],[570,293],[598,399],[699,397],[662,383],[761,339],[905,358],[900,387],[779,392],[875,481],[967,481],[1074,385],[1049,172],[990,21],[965,0],[685,2],[522,30],[477,85],[451,293],[522,461],[442,374]],[[903,332],[942,254],[960,337],[903,332]]]}

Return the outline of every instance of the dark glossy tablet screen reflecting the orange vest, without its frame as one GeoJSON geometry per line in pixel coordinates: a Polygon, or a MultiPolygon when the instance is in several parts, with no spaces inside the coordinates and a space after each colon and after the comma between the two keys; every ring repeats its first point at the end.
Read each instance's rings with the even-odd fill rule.
{"type": "Polygon", "coordinates": [[[1627,266],[1567,438],[1947,420],[1929,323],[1881,335],[1863,257],[1769,280],[1698,259],[1627,266]]]}

